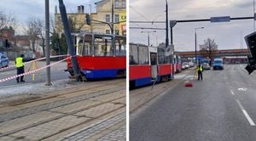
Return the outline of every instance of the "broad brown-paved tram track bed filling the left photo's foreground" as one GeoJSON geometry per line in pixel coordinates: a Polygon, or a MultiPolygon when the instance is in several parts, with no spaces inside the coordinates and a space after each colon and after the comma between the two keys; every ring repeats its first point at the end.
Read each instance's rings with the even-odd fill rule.
{"type": "Polygon", "coordinates": [[[36,138],[36,140],[55,140],[49,138],[56,138],[55,136],[60,136],[60,134],[63,133],[72,133],[71,131],[73,129],[79,129],[81,125],[86,127],[87,124],[99,121],[102,117],[106,118],[111,115],[116,115],[120,113],[120,111],[125,112],[125,95],[125,82],[122,80],[107,83],[99,82],[98,85],[94,83],[91,87],[79,86],[68,92],[64,91],[64,93],[51,95],[47,99],[36,99],[9,105],[9,107],[20,107],[20,109],[0,114],[0,140],[34,140],[32,138],[33,135],[28,131],[33,131],[34,128],[51,127],[51,123],[56,122],[56,124],[58,124],[60,121],[63,121],[63,119],[72,118],[75,121],[74,124],[61,127],[61,129],[56,129],[56,131],[52,133],[36,138]],[[60,99],[56,99],[58,97],[60,97],[60,99]],[[45,103],[34,104],[42,101],[45,101],[45,103]],[[86,104],[87,102],[90,104],[86,104]],[[30,104],[32,104],[32,106],[29,106],[30,104]],[[74,110],[74,105],[79,105],[78,109],[74,110]],[[90,114],[89,116],[86,114],[83,115],[86,111],[101,109],[108,105],[110,105],[109,110],[103,110],[103,112],[97,113],[96,116],[90,116],[90,114]],[[45,115],[45,113],[43,114],[45,117],[42,119],[44,120],[40,118],[39,120],[29,121],[31,116],[37,118],[37,116],[40,116],[43,112],[49,114],[49,116],[45,115]],[[25,123],[26,121],[27,123],[25,123]],[[20,124],[15,125],[15,122],[20,124]],[[1,128],[3,129],[2,132],[1,128]]]}

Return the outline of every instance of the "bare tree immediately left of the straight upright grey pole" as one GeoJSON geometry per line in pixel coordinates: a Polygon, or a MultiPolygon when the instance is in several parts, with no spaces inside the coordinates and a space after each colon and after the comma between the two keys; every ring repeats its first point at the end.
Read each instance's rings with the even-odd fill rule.
{"type": "Polygon", "coordinates": [[[27,20],[26,34],[32,42],[32,51],[35,52],[35,43],[38,38],[42,40],[43,54],[45,46],[45,37],[44,37],[44,20],[40,20],[35,17],[31,17],[27,20]]]}

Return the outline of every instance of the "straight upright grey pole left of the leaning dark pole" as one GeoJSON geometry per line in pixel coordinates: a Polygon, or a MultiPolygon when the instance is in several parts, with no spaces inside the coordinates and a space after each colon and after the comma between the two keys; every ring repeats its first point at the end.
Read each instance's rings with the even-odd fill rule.
{"type": "MultiPolygon", "coordinates": [[[[45,0],[46,65],[49,65],[49,0],[45,0]]],[[[46,86],[50,86],[50,67],[46,68],[46,86]]]]}

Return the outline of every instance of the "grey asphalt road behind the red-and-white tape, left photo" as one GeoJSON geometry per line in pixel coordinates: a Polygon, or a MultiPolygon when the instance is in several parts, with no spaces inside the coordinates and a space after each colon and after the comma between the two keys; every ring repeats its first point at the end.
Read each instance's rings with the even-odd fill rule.
{"type": "MultiPolygon", "coordinates": [[[[10,65],[12,65],[11,62],[10,65]]],[[[54,63],[54,62],[51,62],[54,63]]],[[[44,66],[46,63],[45,61],[38,61],[38,68],[44,66]]],[[[25,65],[25,71],[28,71],[28,69],[31,67],[31,64],[27,64],[25,65]]],[[[36,67],[35,67],[36,68],[36,67]]],[[[67,79],[69,76],[68,72],[65,72],[64,70],[67,69],[67,62],[61,62],[59,64],[53,65],[50,67],[50,80],[51,81],[55,81],[55,80],[60,80],[60,79],[67,79]]],[[[31,68],[31,70],[33,70],[33,68],[31,68]]],[[[9,77],[9,76],[15,76],[16,75],[16,69],[13,68],[9,71],[0,71],[0,79],[9,77]]],[[[15,85],[23,85],[26,83],[38,83],[38,82],[46,82],[46,69],[42,70],[42,71],[38,71],[34,73],[35,75],[35,79],[34,81],[32,81],[32,74],[31,75],[27,75],[25,76],[25,83],[24,82],[20,82],[17,83],[15,79],[7,81],[7,82],[0,82],[0,87],[6,87],[6,86],[14,86],[15,85]]]]}

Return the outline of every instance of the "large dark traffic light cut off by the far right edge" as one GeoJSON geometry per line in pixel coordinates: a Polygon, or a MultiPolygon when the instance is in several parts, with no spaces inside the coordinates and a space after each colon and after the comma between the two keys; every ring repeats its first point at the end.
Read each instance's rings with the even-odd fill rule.
{"type": "Polygon", "coordinates": [[[250,53],[247,57],[248,65],[245,69],[249,74],[251,74],[256,69],[256,31],[244,38],[247,42],[247,48],[250,53]]]}

